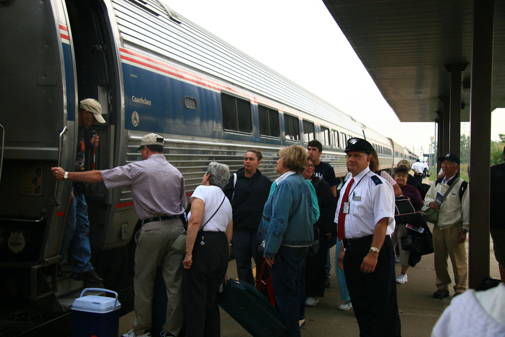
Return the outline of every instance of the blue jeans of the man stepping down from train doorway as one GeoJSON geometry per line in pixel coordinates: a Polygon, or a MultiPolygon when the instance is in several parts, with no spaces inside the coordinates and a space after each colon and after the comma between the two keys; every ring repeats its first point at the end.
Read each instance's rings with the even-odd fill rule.
{"type": "Polygon", "coordinates": [[[67,248],[74,260],[73,270],[75,273],[93,270],[93,266],[89,262],[91,247],[89,246],[88,205],[84,200],[84,194],[74,193],[74,203],[68,208],[67,225],[60,250],[62,259],[65,258],[67,248]]]}

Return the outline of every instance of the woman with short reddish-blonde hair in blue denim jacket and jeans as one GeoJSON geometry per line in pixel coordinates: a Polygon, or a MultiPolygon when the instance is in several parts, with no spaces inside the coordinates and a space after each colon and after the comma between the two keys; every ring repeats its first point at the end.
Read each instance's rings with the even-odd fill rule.
{"type": "Polygon", "coordinates": [[[258,230],[265,239],[265,260],[272,267],[277,310],[290,336],[299,336],[299,283],[314,240],[314,206],[309,186],[301,176],[307,152],[301,146],[279,151],[277,187],[268,199],[258,230]]]}

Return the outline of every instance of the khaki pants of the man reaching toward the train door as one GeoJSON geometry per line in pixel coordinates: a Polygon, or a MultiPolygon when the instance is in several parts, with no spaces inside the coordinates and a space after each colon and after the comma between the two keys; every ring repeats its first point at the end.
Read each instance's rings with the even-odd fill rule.
{"type": "Polygon", "coordinates": [[[133,331],[143,334],[151,327],[153,308],[153,288],[158,263],[162,264],[162,274],[167,288],[167,321],[163,329],[178,335],[183,320],[181,303],[182,258],[172,251],[172,244],[184,231],[180,219],[153,221],[142,225],[135,240],[135,321],[133,331]]]}

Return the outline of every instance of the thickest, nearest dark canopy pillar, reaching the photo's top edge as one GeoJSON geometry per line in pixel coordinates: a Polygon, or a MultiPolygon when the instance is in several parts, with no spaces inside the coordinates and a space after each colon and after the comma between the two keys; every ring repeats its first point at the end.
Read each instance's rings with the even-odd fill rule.
{"type": "Polygon", "coordinates": [[[489,276],[489,141],[493,68],[494,1],[474,2],[470,93],[470,258],[469,285],[489,276]]]}

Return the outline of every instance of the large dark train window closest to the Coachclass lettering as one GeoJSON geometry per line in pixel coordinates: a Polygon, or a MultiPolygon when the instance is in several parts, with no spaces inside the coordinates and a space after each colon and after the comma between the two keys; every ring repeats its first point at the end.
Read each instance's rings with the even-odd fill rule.
{"type": "Polygon", "coordinates": [[[227,131],[251,133],[251,105],[248,100],[221,93],[223,127],[227,131]]]}

